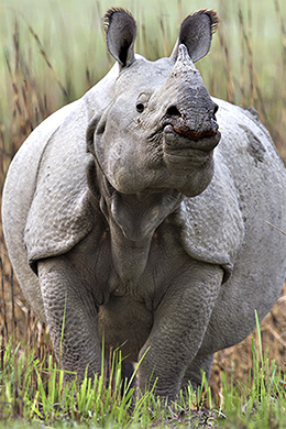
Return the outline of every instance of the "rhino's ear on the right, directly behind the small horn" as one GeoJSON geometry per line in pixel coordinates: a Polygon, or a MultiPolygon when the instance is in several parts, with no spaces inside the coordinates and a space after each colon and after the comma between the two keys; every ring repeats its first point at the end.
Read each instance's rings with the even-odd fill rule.
{"type": "Polygon", "coordinates": [[[183,43],[193,63],[202,58],[209,52],[212,34],[217,31],[219,16],[212,10],[200,10],[188,15],[182,23],[177,43],[170,54],[176,61],[178,46],[183,43]]]}

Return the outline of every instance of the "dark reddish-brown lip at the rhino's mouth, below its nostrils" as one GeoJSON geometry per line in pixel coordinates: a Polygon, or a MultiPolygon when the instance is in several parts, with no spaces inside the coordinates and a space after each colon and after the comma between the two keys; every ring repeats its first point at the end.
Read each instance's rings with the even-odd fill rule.
{"type": "Polygon", "coordinates": [[[210,127],[206,131],[197,132],[190,130],[182,121],[166,121],[163,123],[164,134],[176,134],[178,136],[176,145],[172,143],[173,148],[196,148],[210,152],[219,143],[221,134],[219,125],[215,119],[211,119],[210,127]]]}

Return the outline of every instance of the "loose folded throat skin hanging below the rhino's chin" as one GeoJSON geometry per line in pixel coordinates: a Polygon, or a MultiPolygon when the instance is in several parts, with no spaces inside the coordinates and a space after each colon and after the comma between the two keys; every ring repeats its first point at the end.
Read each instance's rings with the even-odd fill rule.
{"type": "Polygon", "coordinates": [[[113,264],[122,282],[145,270],[153,234],[180,202],[175,190],[146,195],[113,193],[109,212],[113,264]]]}

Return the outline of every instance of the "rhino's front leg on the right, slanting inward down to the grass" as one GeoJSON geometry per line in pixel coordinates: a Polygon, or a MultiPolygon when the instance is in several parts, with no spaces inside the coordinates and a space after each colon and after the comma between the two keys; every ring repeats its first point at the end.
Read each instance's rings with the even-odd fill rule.
{"type": "MultiPolygon", "coordinates": [[[[186,268],[186,267],[185,267],[186,268]]],[[[222,283],[221,267],[194,261],[169,284],[140,352],[139,388],[175,400],[187,369],[201,345],[222,283]]],[[[198,374],[199,376],[200,374],[198,374]]]]}

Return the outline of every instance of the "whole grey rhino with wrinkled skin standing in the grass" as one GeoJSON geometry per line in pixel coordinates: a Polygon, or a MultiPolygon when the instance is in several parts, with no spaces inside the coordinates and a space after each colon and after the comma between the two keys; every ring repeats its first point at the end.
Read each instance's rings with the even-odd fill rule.
{"type": "Polygon", "coordinates": [[[105,338],[127,376],[145,354],[139,392],[157,378],[175,399],[280,293],[286,241],[266,222],[286,231],[285,169],[261,122],[211,99],[194,65],[217,22],[189,15],[170,57],[152,63],[134,55],[133,18],[108,11],[117,64],[10,166],[9,255],[57,354],[65,312],[61,362],[79,378],[100,372],[105,338]]]}

